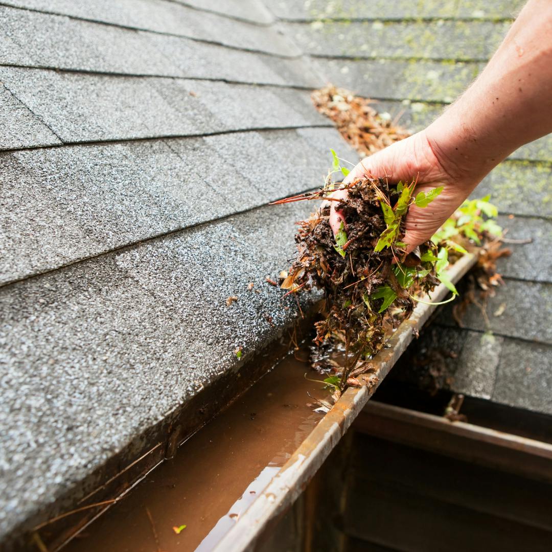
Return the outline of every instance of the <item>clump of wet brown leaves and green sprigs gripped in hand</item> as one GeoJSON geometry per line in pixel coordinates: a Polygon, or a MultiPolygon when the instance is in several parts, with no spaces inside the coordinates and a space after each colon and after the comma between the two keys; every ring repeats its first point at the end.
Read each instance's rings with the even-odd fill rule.
{"type": "MultiPolygon", "coordinates": [[[[447,258],[439,257],[432,241],[410,254],[402,242],[410,205],[426,206],[442,191],[436,188],[414,196],[414,187],[415,182],[390,184],[383,178],[360,178],[340,188],[347,190],[347,199],[339,200],[347,226],[342,222],[335,237],[327,203],[298,223],[298,256],[282,288],[288,293],[313,287],[325,292],[326,306],[322,320],[316,323],[315,341],[344,343],[345,365],[336,385],[339,391],[351,377],[369,369],[368,360],[383,347],[389,333],[410,316],[417,294],[429,293],[446,280],[441,272],[447,258]]],[[[320,192],[282,203],[331,200],[332,191],[331,186],[325,186],[320,192]]],[[[449,285],[455,293],[453,284],[449,285]]]]}

